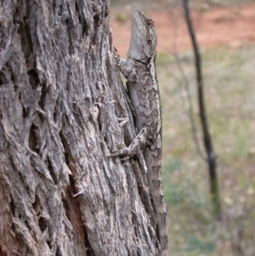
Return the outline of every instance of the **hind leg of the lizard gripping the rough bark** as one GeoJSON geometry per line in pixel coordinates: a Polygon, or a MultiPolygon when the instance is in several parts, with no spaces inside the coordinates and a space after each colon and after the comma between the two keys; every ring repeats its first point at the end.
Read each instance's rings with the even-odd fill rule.
{"type": "Polygon", "coordinates": [[[147,128],[142,128],[139,134],[133,139],[133,142],[126,148],[113,151],[109,156],[124,156],[122,161],[134,156],[139,149],[141,149],[147,141],[148,130],[147,128]]]}

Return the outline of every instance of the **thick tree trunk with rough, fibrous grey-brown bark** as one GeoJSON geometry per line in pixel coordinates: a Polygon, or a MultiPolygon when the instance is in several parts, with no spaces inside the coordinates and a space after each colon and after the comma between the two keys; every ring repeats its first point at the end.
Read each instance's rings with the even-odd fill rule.
{"type": "Polygon", "coordinates": [[[142,154],[105,157],[135,137],[109,2],[0,8],[0,254],[159,255],[142,154]]]}

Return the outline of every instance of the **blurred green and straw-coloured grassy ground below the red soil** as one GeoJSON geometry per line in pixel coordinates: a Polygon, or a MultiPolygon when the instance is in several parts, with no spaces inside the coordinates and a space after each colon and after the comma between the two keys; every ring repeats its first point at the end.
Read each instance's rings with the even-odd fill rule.
{"type": "MultiPolygon", "coordinates": [[[[254,54],[254,45],[202,52],[208,119],[218,155],[222,223],[213,219],[207,164],[192,139],[184,77],[172,55],[158,54],[163,112],[162,175],[173,256],[255,255],[254,54]],[[243,254],[237,254],[238,246],[243,254]]],[[[183,52],[179,58],[190,81],[196,128],[203,148],[193,56],[183,52]]]]}

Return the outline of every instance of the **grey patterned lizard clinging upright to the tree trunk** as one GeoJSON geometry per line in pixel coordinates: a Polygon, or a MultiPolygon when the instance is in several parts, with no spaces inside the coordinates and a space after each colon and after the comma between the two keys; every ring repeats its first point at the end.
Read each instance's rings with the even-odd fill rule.
{"type": "Polygon", "coordinates": [[[117,65],[127,78],[127,90],[135,111],[139,134],[128,148],[111,156],[134,156],[142,148],[150,194],[156,210],[161,256],[167,256],[167,208],[161,185],[161,103],[156,79],[156,31],[154,23],[133,9],[132,33],[127,60],[116,55],[117,65]]]}

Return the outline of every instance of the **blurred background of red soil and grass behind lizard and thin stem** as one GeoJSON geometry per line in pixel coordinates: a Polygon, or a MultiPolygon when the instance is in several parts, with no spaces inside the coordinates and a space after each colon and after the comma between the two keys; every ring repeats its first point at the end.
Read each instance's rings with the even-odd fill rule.
{"type": "Polygon", "coordinates": [[[194,54],[182,2],[111,0],[113,42],[122,58],[129,46],[133,8],[156,26],[169,255],[254,256],[255,1],[190,0],[217,155],[221,220],[212,207],[194,54]]]}

